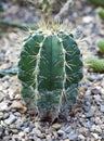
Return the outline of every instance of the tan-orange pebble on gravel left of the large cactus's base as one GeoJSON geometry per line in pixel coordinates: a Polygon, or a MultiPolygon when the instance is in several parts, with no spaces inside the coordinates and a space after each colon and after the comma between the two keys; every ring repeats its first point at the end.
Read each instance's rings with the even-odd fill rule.
{"type": "Polygon", "coordinates": [[[20,110],[21,113],[25,113],[27,111],[27,107],[24,106],[21,102],[14,101],[11,105],[11,107],[20,110]]]}

